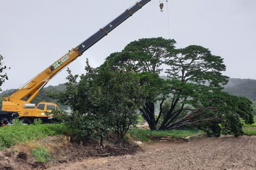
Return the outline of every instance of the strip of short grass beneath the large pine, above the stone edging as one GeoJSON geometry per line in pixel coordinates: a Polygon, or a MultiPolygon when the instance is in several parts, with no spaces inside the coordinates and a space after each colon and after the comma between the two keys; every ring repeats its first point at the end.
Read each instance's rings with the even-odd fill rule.
{"type": "Polygon", "coordinates": [[[203,133],[202,130],[144,130],[144,129],[130,129],[127,132],[131,136],[139,138],[142,141],[149,141],[148,135],[155,136],[173,136],[173,137],[187,137],[203,133]]]}

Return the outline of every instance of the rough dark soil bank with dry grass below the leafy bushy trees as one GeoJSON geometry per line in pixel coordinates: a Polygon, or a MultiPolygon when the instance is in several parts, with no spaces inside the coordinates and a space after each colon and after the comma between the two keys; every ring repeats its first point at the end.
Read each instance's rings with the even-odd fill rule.
{"type": "Polygon", "coordinates": [[[71,137],[64,135],[30,141],[0,151],[0,170],[42,170],[85,159],[135,154],[141,150],[139,146],[128,142],[124,142],[123,146],[115,145],[114,142],[112,135],[107,136],[105,147],[100,147],[99,141],[93,138],[87,138],[83,141],[73,141],[71,137]],[[37,148],[39,145],[43,145],[51,153],[52,159],[46,164],[38,162],[31,154],[31,150],[37,148]]]}

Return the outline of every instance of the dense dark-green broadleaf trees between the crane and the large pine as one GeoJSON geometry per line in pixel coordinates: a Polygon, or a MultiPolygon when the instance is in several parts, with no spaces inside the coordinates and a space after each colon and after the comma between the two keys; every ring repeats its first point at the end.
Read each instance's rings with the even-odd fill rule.
{"type": "Polygon", "coordinates": [[[129,126],[136,123],[136,110],[143,102],[144,91],[139,79],[133,72],[112,70],[108,65],[91,68],[88,60],[85,70],[79,82],[76,81],[79,76],[68,70],[66,91],[50,94],[74,110],[72,115],[57,116],[79,138],[101,137],[103,142],[107,131],[113,130],[117,133],[117,142],[122,144],[129,126]]]}

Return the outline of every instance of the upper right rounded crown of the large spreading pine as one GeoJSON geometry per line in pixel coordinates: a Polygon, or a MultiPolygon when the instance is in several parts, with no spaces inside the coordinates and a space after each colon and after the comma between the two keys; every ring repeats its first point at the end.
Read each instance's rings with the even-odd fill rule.
{"type": "Polygon", "coordinates": [[[169,69],[166,73],[171,79],[181,82],[196,82],[210,86],[225,85],[228,80],[220,71],[224,71],[226,66],[220,56],[211,54],[211,51],[199,45],[190,45],[183,49],[177,49],[176,55],[166,60],[169,69]]]}

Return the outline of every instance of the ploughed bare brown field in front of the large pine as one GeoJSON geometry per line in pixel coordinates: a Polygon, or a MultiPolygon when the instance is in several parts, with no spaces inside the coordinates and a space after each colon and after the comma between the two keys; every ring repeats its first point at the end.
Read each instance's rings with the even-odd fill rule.
{"type": "Polygon", "coordinates": [[[50,170],[256,170],[256,136],[160,142],[136,155],[81,160],[50,170]]]}

